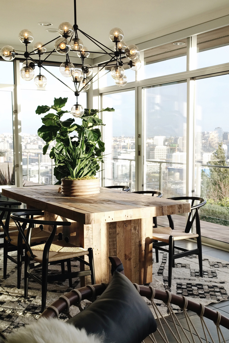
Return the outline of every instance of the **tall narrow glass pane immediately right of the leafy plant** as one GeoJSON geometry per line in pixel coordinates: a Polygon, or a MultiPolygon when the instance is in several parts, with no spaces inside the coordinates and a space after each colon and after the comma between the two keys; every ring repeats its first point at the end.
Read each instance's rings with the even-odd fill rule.
{"type": "Polygon", "coordinates": [[[135,91],[103,95],[105,186],[124,185],[135,190],[135,91]]]}

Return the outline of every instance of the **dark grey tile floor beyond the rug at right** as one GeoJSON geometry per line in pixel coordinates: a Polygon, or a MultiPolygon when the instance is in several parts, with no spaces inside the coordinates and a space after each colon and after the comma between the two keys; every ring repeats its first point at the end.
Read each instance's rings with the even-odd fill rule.
{"type": "MultiPolygon", "coordinates": [[[[182,241],[179,242],[179,244],[176,243],[176,246],[181,246],[181,247],[186,248],[186,249],[195,249],[195,248],[197,248],[196,243],[190,242],[190,241],[187,241],[187,240],[182,240],[182,241]]],[[[211,248],[211,247],[208,247],[206,245],[202,245],[202,250],[203,250],[203,255],[212,256],[212,257],[218,257],[221,260],[229,261],[229,252],[227,252],[227,251],[211,248]]],[[[224,315],[225,317],[229,318],[229,300],[220,301],[220,303],[212,303],[212,304],[207,305],[207,307],[210,307],[214,311],[219,311],[219,312],[221,312],[222,315],[224,315]]],[[[192,317],[192,321],[193,321],[193,323],[194,323],[198,333],[200,334],[203,343],[205,343],[206,340],[204,339],[204,333],[203,333],[203,330],[202,330],[201,321],[199,319],[199,316],[197,314],[195,314],[195,312],[192,312],[192,311],[189,311],[188,314],[189,314],[189,316],[192,317]]],[[[181,312],[181,313],[177,314],[177,316],[178,316],[178,318],[179,318],[183,328],[187,328],[186,320],[184,318],[184,313],[181,312]]],[[[166,320],[167,320],[169,326],[171,326],[171,328],[174,330],[171,317],[167,316],[166,320]]],[[[207,324],[208,323],[212,324],[212,321],[210,321],[208,319],[206,319],[205,321],[206,321],[207,324]]],[[[169,330],[168,330],[168,328],[166,327],[165,324],[163,324],[163,327],[164,327],[164,330],[165,330],[165,332],[166,332],[166,334],[168,336],[169,342],[170,343],[173,343],[173,342],[175,343],[176,342],[175,339],[170,334],[170,332],[169,332],[169,330]]],[[[210,325],[208,325],[208,327],[210,327],[210,325]]],[[[224,338],[226,340],[226,343],[229,343],[229,330],[227,330],[227,329],[225,329],[223,327],[221,329],[222,329],[222,333],[224,334],[224,338]]],[[[197,336],[195,335],[194,330],[193,330],[193,334],[194,334],[195,341],[199,342],[197,336]]],[[[190,338],[190,340],[192,342],[191,335],[190,335],[190,333],[188,331],[187,331],[187,335],[188,335],[188,337],[190,338]]],[[[158,334],[155,335],[155,338],[157,340],[157,343],[164,343],[164,341],[161,339],[161,337],[158,334]]],[[[184,340],[184,342],[187,341],[186,338],[184,337],[184,334],[181,334],[181,338],[182,338],[182,340],[184,340]]],[[[213,339],[214,339],[215,342],[219,342],[218,336],[216,335],[216,330],[214,330],[213,339]]],[[[152,343],[149,338],[147,338],[144,341],[145,341],[145,343],[152,343]]],[[[223,342],[223,340],[221,340],[221,341],[223,342]]],[[[209,338],[209,342],[211,342],[210,338],[209,338]]]]}

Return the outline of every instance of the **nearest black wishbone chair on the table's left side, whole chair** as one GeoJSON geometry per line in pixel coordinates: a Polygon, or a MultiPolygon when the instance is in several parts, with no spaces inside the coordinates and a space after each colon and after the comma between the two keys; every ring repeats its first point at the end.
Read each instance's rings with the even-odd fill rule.
{"type": "Polygon", "coordinates": [[[93,260],[93,250],[88,248],[85,250],[83,248],[77,247],[74,244],[69,243],[68,237],[63,240],[58,240],[53,242],[56,236],[57,226],[69,226],[70,222],[53,222],[46,220],[37,220],[24,218],[26,212],[12,213],[11,218],[17,225],[21,236],[23,237],[26,245],[25,249],[25,276],[24,276],[24,297],[28,296],[28,279],[31,277],[34,281],[42,286],[42,308],[41,311],[45,310],[46,306],[46,293],[47,293],[47,283],[59,280],[69,280],[69,287],[72,287],[72,278],[81,277],[86,275],[91,275],[91,283],[95,284],[95,273],[94,273],[94,260],[93,260]],[[22,223],[22,224],[21,224],[22,223]],[[27,233],[25,236],[24,228],[28,224],[27,233]],[[36,246],[31,246],[31,229],[33,225],[51,225],[53,229],[50,233],[45,244],[39,244],[36,246]],[[82,257],[88,255],[89,263],[85,261],[82,257]],[[71,258],[84,263],[89,266],[90,270],[71,272],[71,258]],[[35,263],[30,263],[34,261],[35,263]],[[62,274],[50,275],[48,276],[48,265],[67,262],[67,273],[62,270],[62,274]],[[42,279],[38,279],[35,275],[30,273],[30,269],[42,267],[42,279]]]}

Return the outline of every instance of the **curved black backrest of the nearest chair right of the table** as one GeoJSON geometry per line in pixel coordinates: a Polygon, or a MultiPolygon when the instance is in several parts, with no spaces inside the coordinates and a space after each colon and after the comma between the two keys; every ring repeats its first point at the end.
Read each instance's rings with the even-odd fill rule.
{"type": "MultiPolygon", "coordinates": [[[[168,198],[170,200],[191,200],[191,212],[188,214],[188,220],[186,223],[186,227],[184,232],[185,233],[189,233],[194,220],[196,219],[196,233],[200,234],[201,233],[201,226],[200,226],[200,220],[199,220],[199,208],[201,208],[202,206],[204,206],[206,204],[206,200],[203,198],[199,198],[199,197],[173,197],[173,198],[168,198]],[[195,204],[195,201],[197,201],[198,203],[195,204]],[[195,211],[195,213],[193,213],[193,211],[195,211]]],[[[174,229],[174,225],[173,225],[173,219],[171,215],[167,216],[169,219],[169,226],[174,229]]]]}

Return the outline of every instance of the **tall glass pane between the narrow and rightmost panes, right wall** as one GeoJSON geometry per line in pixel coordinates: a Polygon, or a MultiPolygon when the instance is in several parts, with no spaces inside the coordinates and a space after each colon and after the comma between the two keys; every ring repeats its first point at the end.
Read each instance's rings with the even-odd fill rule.
{"type": "Polygon", "coordinates": [[[186,82],[143,89],[144,189],[185,196],[186,82]]]}

